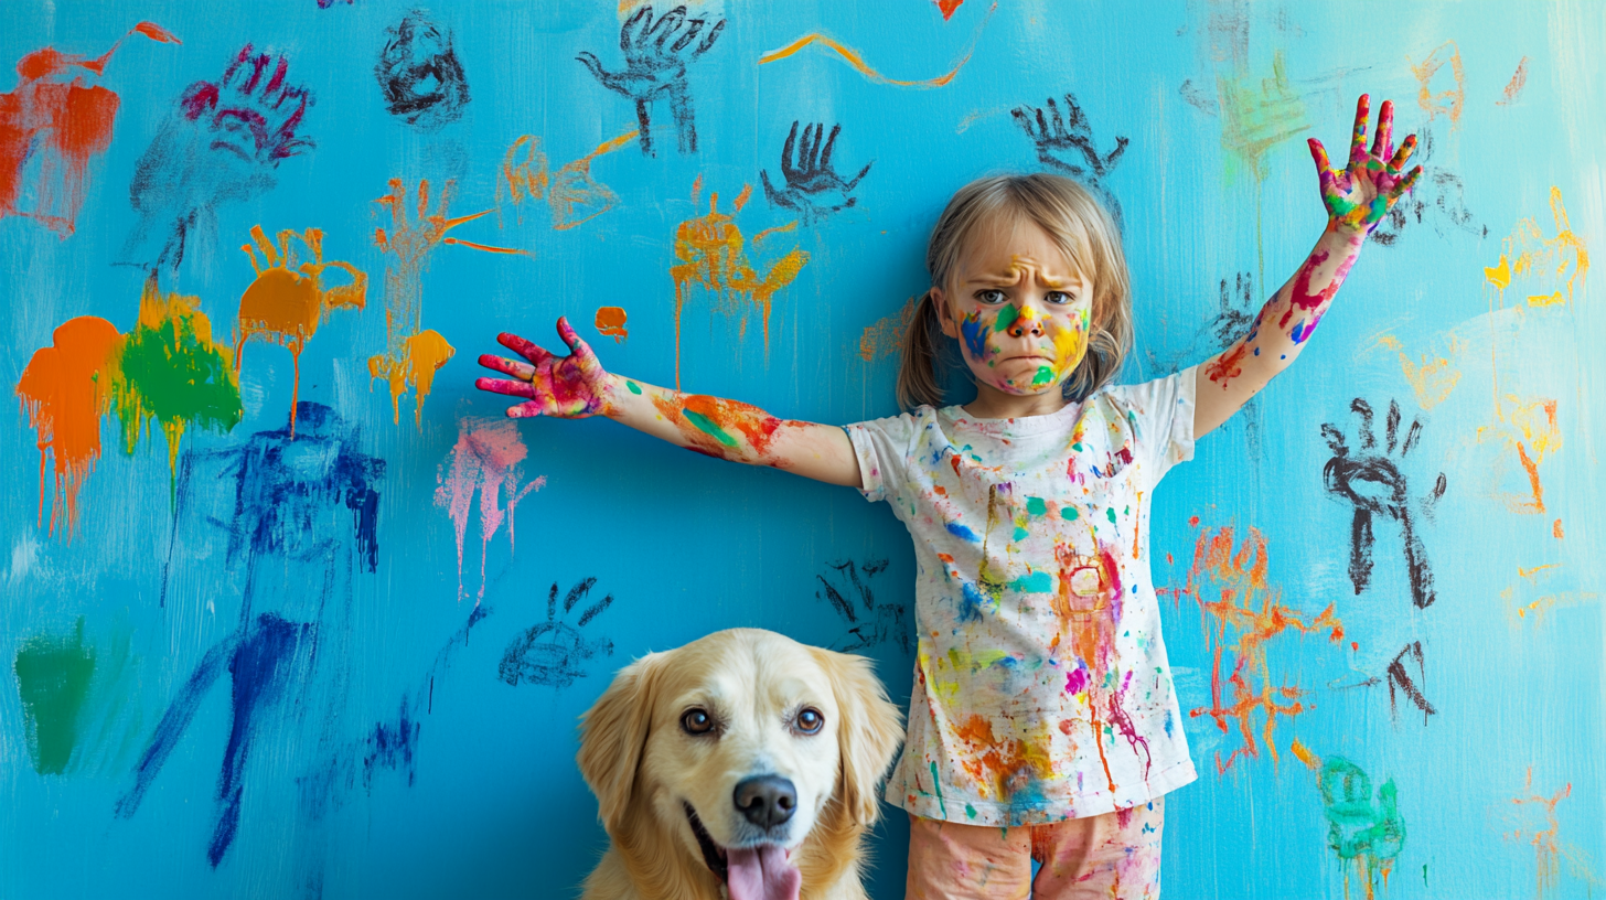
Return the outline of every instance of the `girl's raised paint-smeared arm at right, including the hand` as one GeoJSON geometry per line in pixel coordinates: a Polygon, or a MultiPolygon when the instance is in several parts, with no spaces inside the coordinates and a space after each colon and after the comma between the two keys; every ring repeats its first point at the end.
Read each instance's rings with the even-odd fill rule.
{"type": "Polygon", "coordinates": [[[1392,146],[1394,104],[1388,100],[1378,112],[1372,151],[1367,151],[1368,111],[1368,98],[1360,95],[1355,130],[1349,141],[1349,164],[1343,170],[1333,170],[1322,141],[1310,138],[1322,202],[1327,204],[1327,230],[1299,272],[1266,302],[1249,333],[1200,366],[1198,400],[1193,407],[1195,437],[1232,418],[1249,397],[1294,362],[1338,294],[1338,286],[1360,257],[1367,235],[1421,175],[1421,166],[1404,170],[1416,149],[1416,135],[1407,137],[1399,151],[1392,146]]]}

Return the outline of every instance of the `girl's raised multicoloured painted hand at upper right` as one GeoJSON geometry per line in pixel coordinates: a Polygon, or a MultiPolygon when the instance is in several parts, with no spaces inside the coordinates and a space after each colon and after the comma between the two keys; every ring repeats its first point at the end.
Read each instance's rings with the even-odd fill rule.
{"type": "Polygon", "coordinates": [[[1394,149],[1394,103],[1384,100],[1378,111],[1378,133],[1367,151],[1367,119],[1372,100],[1365,93],[1355,103],[1355,130],[1349,140],[1349,164],[1335,170],[1322,141],[1310,138],[1310,158],[1322,180],[1322,202],[1327,204],[1328,227],[1365,235],[1388,215],[1389,207],[1410,191],[1421,177],[1421,166],[1405,172],[1416,149],[1416,135],[1408,135],[1394,149]]]}

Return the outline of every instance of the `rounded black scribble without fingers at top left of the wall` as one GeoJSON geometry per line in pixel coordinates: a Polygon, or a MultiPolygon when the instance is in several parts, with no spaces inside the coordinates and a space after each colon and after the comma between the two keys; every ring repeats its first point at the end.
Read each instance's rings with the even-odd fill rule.
{"type": "Polygon", "coordinates": [[[469,82],[451,47],[451,32],[413,10],[385,34],[374,64],[385,111],[426,132],[461,119],[469,82]]]}

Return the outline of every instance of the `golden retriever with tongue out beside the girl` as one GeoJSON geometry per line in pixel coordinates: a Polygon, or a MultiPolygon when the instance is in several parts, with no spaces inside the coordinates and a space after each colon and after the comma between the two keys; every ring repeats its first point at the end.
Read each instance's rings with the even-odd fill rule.
{"type": "Polygon", "coordinates": [[[585,900],[861,900],[903,738],[870,661],[731,628],[652,652],[581,718],[610,845],[585,900]]]}

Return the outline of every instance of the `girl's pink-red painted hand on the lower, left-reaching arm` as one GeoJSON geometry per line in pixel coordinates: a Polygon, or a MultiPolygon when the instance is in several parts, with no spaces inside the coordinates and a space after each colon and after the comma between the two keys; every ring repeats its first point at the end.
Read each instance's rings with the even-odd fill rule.
{"type": "Polygon", "coordinates": [[[522,416],[556,416],[562,419],[583,419],[594,415],[609,415],[609,373],[602,370],[591,347],[575,334],[567,318],[557,320],[557,334],[569,344],[567,357],[552,355],[541,347],[506,331],[496,341],[509,350],[530,360],[522,363],[506,357],[485,354],[480,365],[514,376],[479,378],[474,386],[480,391],[506,394],[509,397],[528,397],[527,402],[507,407],[507,415],[522,416]]]}

